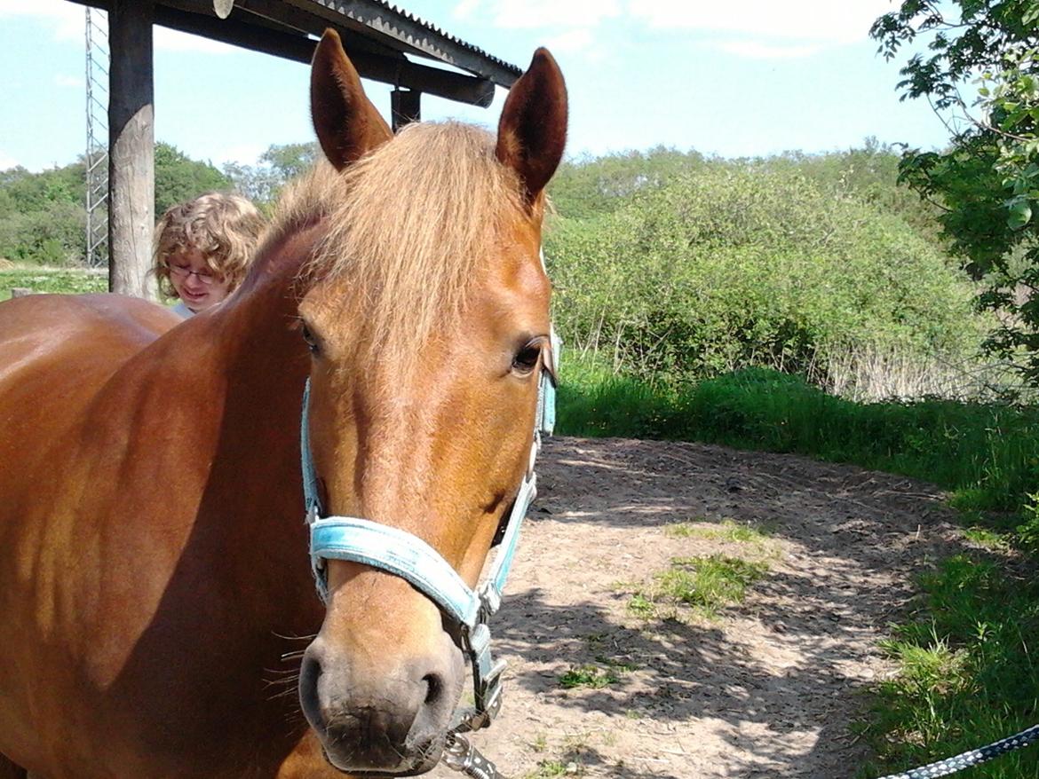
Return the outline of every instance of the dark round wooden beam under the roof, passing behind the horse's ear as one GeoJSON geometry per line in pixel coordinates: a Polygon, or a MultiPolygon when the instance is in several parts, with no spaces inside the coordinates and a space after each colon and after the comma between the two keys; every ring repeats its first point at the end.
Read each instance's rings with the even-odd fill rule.
{"type": "MultiPolygon", "coordinates": [[[[247,24],[243,19],[248,17],[239,18],[237,15],[238,9],[229,19],[219,20],[216,17],[190,14],[159,5],[155,8],[155,23],[251,51],[310,63],[314,56],[314,47],[317,46],[316,41],[302,33],[291,34],[247,24]]],[[[489,106],[495,99],[495,85],[487,79],[416,64],[403,56],[384,57],[354,50],[350,42],[357,33],[349,29],[340,29],[340,33],[350,60],[364,78],[483,108],[489,106]]]]}

